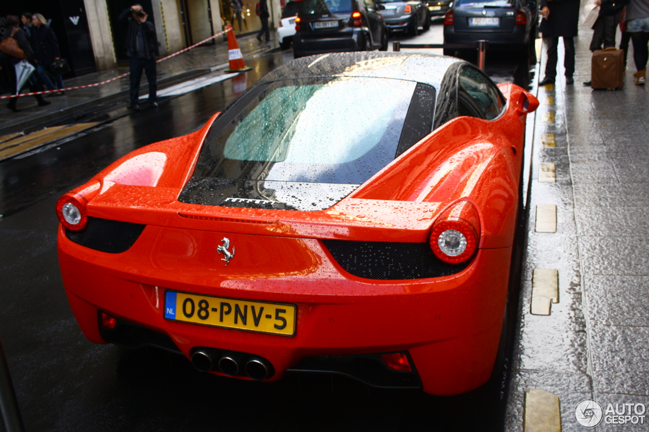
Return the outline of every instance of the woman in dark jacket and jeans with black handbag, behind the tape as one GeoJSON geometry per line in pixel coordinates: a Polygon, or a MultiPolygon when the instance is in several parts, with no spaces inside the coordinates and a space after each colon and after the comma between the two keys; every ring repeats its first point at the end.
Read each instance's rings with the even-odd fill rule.
{"type": "MultiPolygon", "coordinates": [[[[45,87],[49,90],[62,89],[63,78],[61,75],[53,74],[52,77],[56,84],[52,81],[49,74],[49,67],[51,64],[61,58],[58,51],[58,39],[54,30],[50,29],[47,25],[47,20],[42,14],[34,14],[32,16],[33,27],[31,29],[31,38],[29,42],[34,50],[34,62],[36,63],[36,74],[43,82],[45,87]]],[[[64,91],[57,91],[55,95],[62,95],[64,91]]]]}

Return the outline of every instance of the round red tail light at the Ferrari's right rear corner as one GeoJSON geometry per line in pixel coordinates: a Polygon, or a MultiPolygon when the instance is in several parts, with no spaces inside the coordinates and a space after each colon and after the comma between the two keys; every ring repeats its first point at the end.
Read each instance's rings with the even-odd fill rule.
{"type": "Polygon", "coordinates": [[[478,234],[470,222],[450,217],[433,226],[430,247],[435,256],[446,263],[463,263],[476,252],[478,234]]]}

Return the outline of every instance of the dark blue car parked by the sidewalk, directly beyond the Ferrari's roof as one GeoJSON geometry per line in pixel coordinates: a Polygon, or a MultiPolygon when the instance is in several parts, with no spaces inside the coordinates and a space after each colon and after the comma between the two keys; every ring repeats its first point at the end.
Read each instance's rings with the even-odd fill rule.
{"type": "MultiPolygon", "coordinates": [[[[534,19],[535,12],[524,0],[456,0],[444,18],[444,43],[488,40],[489,49],[527,56],[534,19]]],[[[444,54],[463,56],[454,49],[444,54]]]]}

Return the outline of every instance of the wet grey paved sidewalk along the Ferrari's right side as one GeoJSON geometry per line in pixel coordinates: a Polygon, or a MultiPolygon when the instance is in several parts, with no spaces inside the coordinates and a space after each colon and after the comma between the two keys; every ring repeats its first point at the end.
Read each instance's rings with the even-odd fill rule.
{"type": "Polygon", "coordinates": [[[567,86],[561,70],[554,88],[537,91],[541,106],[506,431],[523,430],[524,410],[525,430],[556,430],[533,429],[539,419],[552,426],[554,403],[552,395],[532,393],[524,405],[525,392],[533,389],[558,396],[563,431],[583,430],[575,412],[584,399],[601,405],[598,411],[588,402],[579,411],[589,422],[591,412],[583,407],[593,408],[591,425],[603,415],[597,431],[649,430],[649,89],[633,84],[632,47],[623,90],[583,86],[590,80],[591,36],[592,30],[580,28],[575,84],[567,86]],[[548,181],[553,173],[556,181],[548,181]],[[537,222],[552,225],[553,215],[556,232],[542,232],[537,222]],[[558,272],[558,302],[547,316],[532,315],[532,302],[548,297],[537,291],[544,281],[535,269],[558,272]]]}

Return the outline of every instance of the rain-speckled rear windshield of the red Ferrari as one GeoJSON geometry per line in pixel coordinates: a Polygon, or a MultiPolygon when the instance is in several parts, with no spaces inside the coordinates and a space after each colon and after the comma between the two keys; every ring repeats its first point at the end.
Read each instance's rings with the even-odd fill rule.
{"type": "MultiPolygon", "coordinates": [[[[194,177],[361,184],[397,155],[416,86],[365,77],[272,82],[215,121],[194,177]]],[[[417,118],[432,119],[432,109],[417,118]]]]}

